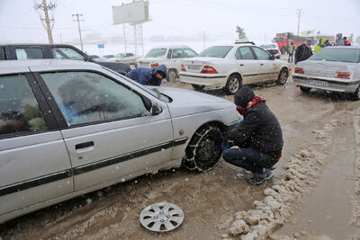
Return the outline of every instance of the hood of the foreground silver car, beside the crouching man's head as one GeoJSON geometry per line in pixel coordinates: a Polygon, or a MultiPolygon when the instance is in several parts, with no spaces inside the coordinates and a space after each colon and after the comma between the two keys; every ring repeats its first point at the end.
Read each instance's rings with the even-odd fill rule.
{"type": "Polygon", "coordinates": [[[235,104],[233,102],[207,93],[161,86],[158,87],[157,90],[172,98],[173,101],[168,102],[167,106],[173,118],[227,108],[235,109],[235,104]]]}

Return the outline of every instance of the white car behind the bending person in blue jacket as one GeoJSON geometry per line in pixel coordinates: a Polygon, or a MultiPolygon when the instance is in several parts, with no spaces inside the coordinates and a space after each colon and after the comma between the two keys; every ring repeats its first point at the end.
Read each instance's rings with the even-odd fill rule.
{"type": "Polygon", "coordinates": [[[196,57],[197,53],[186,45],[160,46],[151,49],[144,58],[136,60],[138,67],[165,65],[167,81],[175,80],[180,73],[181,60],[196,57]]]}

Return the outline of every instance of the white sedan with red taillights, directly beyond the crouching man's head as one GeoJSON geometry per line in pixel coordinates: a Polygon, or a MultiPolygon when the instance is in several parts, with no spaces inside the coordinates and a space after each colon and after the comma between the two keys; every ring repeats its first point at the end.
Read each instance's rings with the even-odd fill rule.
{"type": "Polygon", "coordinates": [[[198,57],[184,59],[180,81],[193,84],[197,90],[204,86],[222,86],[226,93],[234,94],[242,84],[269,80],[285,84],[289,73],[286,61],[275,59],[254,44],[236,43],[213,46],[204,49],[198,57]]]}

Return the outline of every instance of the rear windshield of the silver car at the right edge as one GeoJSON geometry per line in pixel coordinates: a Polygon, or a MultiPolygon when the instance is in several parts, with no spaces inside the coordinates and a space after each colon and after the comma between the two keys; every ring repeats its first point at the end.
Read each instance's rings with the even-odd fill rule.
{"type": "Polygon", "coordinates": [[[344,48],[325,48],[311,56],[309,60],[324,60],[335,62],[358,63],[360,58],[360,49],[344,48]]]}

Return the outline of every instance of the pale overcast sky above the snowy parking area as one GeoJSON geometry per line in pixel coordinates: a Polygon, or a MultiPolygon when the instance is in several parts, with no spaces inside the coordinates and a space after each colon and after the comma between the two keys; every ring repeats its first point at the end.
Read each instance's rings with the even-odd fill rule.
{"type": "MultiPolygon", "coordinates": [[[[37,0],[38,2],[40,0],[37,0]]],[[[0,0],[0,42],[47,42],[34,0],[0,0]]],[[[83,33],[122,36],[122,26],[112,24],[112,5],[121,0],[47,0],[57,3],[53,38],[60,42],[78,38],[72,14],[82,13],[83,33]]],[[[236,26],[250,40],[270,41],[276,32],[297,31],[296,10],[302,9],[300,30],[360,36],[360,0],[149,0],[151,22],[143,24],[144,39],[151,35],[223,36],[233,41],[236,26]]]]}

